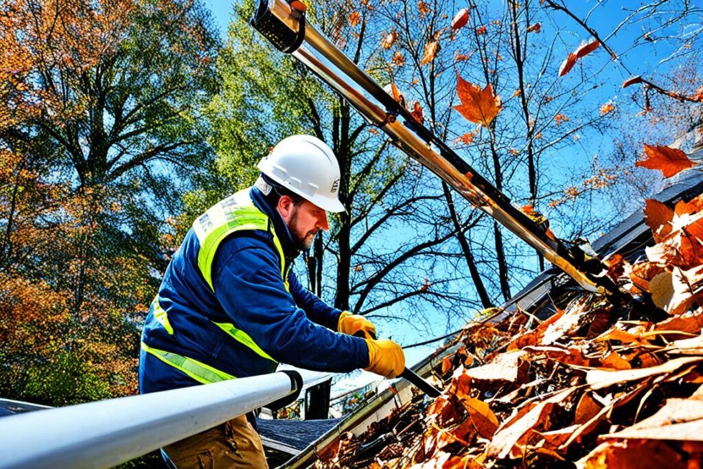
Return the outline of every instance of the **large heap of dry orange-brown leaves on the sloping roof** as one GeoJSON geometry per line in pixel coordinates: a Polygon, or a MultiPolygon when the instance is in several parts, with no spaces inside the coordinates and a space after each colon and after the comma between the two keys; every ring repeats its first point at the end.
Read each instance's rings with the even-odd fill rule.
{"type": "Polygon", "coordinates": [[[527,312],[467,326],[422,396],[319,468],[700,468],[703,196],[648,200],[646,259],[608,259],[633,295],[581,293],[538,323],[527,312]],[[534,327],[535,324],[538,324],[534,327]]]}

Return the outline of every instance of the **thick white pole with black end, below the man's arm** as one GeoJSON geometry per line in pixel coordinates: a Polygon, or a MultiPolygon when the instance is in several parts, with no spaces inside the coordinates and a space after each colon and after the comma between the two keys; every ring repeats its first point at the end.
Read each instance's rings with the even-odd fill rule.
{"type": "Polygon", "coordinates": [[[0,468],[111,468],[301,389],[280,371],[3,417],[0,468]]]}

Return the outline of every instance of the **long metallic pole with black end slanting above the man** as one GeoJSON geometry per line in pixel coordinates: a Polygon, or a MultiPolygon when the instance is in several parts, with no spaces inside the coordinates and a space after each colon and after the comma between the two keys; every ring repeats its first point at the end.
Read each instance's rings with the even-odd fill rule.
{"type": "Polygon", "coordinates": [[[589,259],[579,248],[567,248],[550,236],[544,226],[514,207],[501,191],[432,131],[416,122],[408,110],[285,0],[259,0],[250,23],[278,50],[290,53],[330,85],[368,122],[382,129],[397,147],[446,181],[474,207],[531,245],[582,288],[609,297],[622,295],[617,285],[604,275],[606,269],[602,262],[589,259]]]}

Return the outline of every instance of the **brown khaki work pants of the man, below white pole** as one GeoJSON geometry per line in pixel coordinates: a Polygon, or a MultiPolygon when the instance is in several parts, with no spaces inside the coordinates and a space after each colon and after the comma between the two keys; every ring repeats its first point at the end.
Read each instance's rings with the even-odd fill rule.
{"type": "Polygon", "coordinates": [[[164,446],[162,451],[178,469],[269,468],[262,440],[246,416],[164,446]]]}

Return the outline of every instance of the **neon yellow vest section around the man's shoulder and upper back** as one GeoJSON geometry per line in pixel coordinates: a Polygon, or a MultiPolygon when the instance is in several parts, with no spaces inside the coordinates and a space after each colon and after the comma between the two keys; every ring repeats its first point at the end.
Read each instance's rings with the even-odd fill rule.
{"type": "Polygon", "coordinates": [[[212,262],[220,243],[232,233],[244,230],[261,230],[271,233],[273,245],[280,258],[280,275],[285,289],[288,290],[288,278],[285,276],[285,255],[280,240],[269,226],[269,217],[257,208],[249,196],[249,189],[239,191],[210,207],[193,222],[193,231],[198,236],[198,268],[212,291],[212,262]]]}

